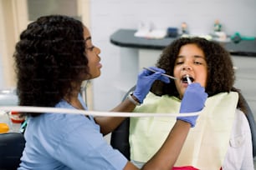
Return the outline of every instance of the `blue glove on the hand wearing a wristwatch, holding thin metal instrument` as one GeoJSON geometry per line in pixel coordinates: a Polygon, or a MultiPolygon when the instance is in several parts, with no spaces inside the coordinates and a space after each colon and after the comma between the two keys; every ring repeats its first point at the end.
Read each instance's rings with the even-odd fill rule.
{"type": "Polygon", "coordinates": [[[150,91],[153,82],[155,82],[156,80],[161,80],[162,82],[166,83],[170,82],[170,79],[168,77],[161,75],[161,73],[166,73],[166,71],[158,67],[150,68],[152,70],[155,70],[156,72],[151,72],[143,69],[143,71],[140,72],[138,75],[136,89],[133,92],[133,96],[135,96],[141,103],[143,102],[147,93],[150,91]]]}

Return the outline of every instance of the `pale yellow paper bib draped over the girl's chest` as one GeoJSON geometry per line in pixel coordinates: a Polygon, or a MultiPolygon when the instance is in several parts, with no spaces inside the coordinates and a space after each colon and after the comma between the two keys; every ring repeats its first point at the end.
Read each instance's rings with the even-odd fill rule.
{"type": "MultiPolygon", "coordinates": [[[[227,153],[237,92],[222,92],[208,97],[195,128],[191,128],[176,167],[192,165],[199,169],[219,169],[227,153]]],[[[181,101],[176,97],[157,97],[149,93],[144,104],[134,112],[179,112],[181,101]]],[[[131,117],[131,159],[147,162],[164,143],[176,117],[131,117]]]]}

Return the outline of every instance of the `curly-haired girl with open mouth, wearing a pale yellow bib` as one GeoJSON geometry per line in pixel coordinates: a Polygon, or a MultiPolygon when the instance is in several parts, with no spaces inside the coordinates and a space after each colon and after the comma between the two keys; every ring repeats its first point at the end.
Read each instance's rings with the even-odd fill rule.
{"type": "MultiPolygon", "coordinates": [[[[217,42],[182,37],[164,49],[156,67],[177,80],[154,82],[151,92],[134,112],[179,112],[188,86],[187,76],[192,83],[199,82],[205,87],[208,94],[175,166],[253,170],[251,132],[241,94],[233,87],[235,75],[229,53],[217,42]]],[[[174,122],[172,117],[131,118],[131,160],[138,167],[161,147],[174,122]]]]}

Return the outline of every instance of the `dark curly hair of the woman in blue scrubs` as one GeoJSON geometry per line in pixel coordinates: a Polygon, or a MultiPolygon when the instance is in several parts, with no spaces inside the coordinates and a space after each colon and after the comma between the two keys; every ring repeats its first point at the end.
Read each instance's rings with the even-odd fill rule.
{"type": "Polygon", "coordinates": [[[84,49],[79,20],[49,15],[28,24],[13,54],[19,105],[54,107],[72,89],[71,81],[81,82],[82,72],[90,76],[84,49]]]}

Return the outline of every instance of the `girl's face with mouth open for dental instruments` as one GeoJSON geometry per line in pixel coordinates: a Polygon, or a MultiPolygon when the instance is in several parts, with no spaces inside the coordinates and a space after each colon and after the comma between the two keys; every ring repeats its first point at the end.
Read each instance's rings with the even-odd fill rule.
{"type": "Polygon", "coordinates": [[[196,44],[187,44],[180,48],[174,65],[174,77],[177,77],[175,85],[180,98],[187,88],[186,75],[191,77],[192,82],[198,82],[202,87],[207,85],[207,62],[202,49],[196,44]]]}

